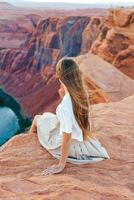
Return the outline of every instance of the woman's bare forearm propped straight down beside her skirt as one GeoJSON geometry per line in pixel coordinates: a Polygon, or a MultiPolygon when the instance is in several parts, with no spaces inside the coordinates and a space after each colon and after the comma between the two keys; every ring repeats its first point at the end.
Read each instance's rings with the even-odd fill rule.
{"type": "Polygon", "coordinates": [[[61,145],[61,158],[59,161],[59,166],[65,167],[66,165],[66,158],[68,157],[69,147],[71,143],[71,134],[63,132],[63,138],[62,138],[62,145],[61,145]]]}

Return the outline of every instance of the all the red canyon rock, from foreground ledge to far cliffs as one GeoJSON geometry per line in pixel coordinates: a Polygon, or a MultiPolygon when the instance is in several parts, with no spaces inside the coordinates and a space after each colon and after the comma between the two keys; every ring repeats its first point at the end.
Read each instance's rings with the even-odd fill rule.
{"type": "Polygon", "coordinates": [[[132,200],[134,9],[72,12],[4,6],[0,85],[29,118],[55,113],[60,102],[55,66],[61,57],[73,57],[92,94],[94,133],[110,160],[67,163],[61,174],[43,177],[44,168],[57,160],[26,129],[0,147],[0,199],[132,200]]]}

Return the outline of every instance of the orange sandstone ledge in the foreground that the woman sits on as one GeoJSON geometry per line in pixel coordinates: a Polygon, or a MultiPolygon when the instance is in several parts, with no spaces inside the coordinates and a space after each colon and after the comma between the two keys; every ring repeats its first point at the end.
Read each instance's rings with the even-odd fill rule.
{"type": "Polygon", "coordinates": [[[0,149],[0,199],[132,200],[134,96],[93,105],[92,117],[96,137],[110,160],[81,166],[67,163],[61,174],[43,177],[44,168],[57,160],[36,134],[14,136],[0,149]]]}

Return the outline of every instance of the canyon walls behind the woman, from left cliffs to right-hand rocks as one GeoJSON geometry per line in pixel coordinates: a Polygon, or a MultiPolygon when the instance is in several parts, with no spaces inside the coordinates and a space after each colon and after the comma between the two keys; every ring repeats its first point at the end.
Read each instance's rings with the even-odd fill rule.
{"type": "MultiPolygon", "coordinates": [[[[133,9],[110,10],[105,17],[87,13],[86,16],[78,16],[76,11],[72,13],[75,16],[67,16],[67,12],[56,14],[55,17],[25,14],[29,20],[27,23],[31,25],[24,24],[27,31],[24,31],[23,42],[14,47],[11,42],[8,47],[0,49],[0,84],[20,102],[29,116],[32,118],[45,111],[55,112],[59,103],[55,66],[66,55],[76,57],[76,60],[79,60],[77,56],[83,55],[80,61],[83,71],[89,63],[90,66],[96,63],[94,72],[88,73],[86,79],[89,90],[94,91],[92,104],[118,101],[133,94],[133,9]],[[109,89],[106,89],[108,82],[103,75],[106,71],[111,73],[109,65],[106,61],[100,64],[101,59],[86,55],[88,52],[113,64],[110,68],[114,76],[108,76],[109,89]],[[100,76],[97,66],[102,65],[105,67],[100,76]],[[115,67],[122,73],[114,70],[115,67]]],[[[16,38],[16,33],[22,29],[11,27],[3,29],[2,26],[1,31],[10,30],[16,38]]]]}

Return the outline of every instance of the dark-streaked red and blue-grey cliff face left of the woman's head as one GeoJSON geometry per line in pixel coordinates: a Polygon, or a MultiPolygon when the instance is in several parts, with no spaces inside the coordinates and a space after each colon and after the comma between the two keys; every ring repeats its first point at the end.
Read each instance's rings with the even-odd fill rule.
{"type": "MultiPolygon", "coordinates": [[[[98,24],[96,21],[89,16],[40,19],[23,45],[0,50],[0,84],[18,99],[30,117],[55,110],[59,87],[55,65],[62,56],[77,56],[86,49],[83,31],[88,26],[97,32],[101,19],[98,24]]],[[[94,39],[91,37],[90,43],[94,39]]]]}

